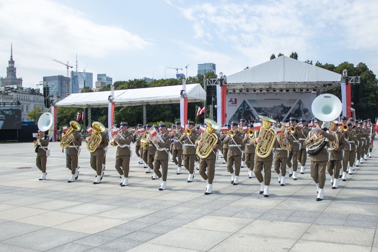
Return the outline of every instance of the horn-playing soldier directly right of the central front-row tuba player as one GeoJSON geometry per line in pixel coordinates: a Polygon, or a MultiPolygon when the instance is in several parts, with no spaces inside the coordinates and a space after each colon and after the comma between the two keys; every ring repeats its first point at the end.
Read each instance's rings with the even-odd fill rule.
{"type": "Polygon", "coordinates": [[[227,170],[231,173],[231,184],[237,185],[239,183],[240,163],[241,163],[241,143],[243,141],[242,133],[238,130],[237,121],[231,122],[231,129],[234,132],[234,136],[228,134],[223,141],[224,144],[228,144],[227,151],[227,170]],[[235,172],[232,166],[235,165],[235,172]]]}

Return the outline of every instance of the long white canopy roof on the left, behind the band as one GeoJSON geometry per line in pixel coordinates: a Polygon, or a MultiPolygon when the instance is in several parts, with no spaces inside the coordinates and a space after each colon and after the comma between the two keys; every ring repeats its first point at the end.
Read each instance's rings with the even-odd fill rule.
{"type": "MultiPolygon", "coordinates": [[[[135,106],[143,104],[179,103],[182,85],[153,88],[114,90],[115,106],[135,106]]],[[[187,84],[188,102],[206,100],[206,92],[201,84],[187,84]]],[[[58,101],[56,106],[65,107],[106,107],[110,91],[71,94],[58,101]]]]}

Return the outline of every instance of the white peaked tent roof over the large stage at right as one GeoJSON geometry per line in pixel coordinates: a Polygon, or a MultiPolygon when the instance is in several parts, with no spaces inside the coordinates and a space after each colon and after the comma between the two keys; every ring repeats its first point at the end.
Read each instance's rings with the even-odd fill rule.
{"type": "Polygon", "coordinates": [[[280,56],[227,76],[227,92],[319,93],[340,85],[341,77],[340,74],[315,65],[287,56],[280,56]]]}

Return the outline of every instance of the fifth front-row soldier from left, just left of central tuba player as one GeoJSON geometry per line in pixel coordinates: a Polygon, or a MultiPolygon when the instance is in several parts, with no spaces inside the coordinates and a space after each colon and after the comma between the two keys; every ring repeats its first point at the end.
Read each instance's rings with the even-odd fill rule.
{"type": "Polygon", "coordinates": [[[163,141],[153,140],[155,146],[159,146],[159,149],[156,148],[156,153],[154,157],[154,172],[160,179],[159,191],[165,190],[167,184],[167,173],[168,173],[168,151],[171,146],[171,138],[168,134],[167,125],[165,123],[159,124],[160,137],[163,141]],[[160,166],[162,173],[160,172],[160,166]]]}

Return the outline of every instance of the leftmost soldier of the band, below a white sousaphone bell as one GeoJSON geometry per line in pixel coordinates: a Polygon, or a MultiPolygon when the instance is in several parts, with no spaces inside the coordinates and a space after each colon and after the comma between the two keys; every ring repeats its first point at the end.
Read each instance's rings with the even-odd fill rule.
{"type": "Polygon", "coordinates": [[[37,153],[36,165],[42,172],[42,176],[39,178],[39,180],[46,180],[46,163],[47,157],[49,156],[47,146],[50,139],[44,131],[40,130],[38,130],[38,135],[35,137],[37,140],[34,140],[33,143],[36,143],[38,141],[38,145],[35,148],[35,152],[37,153]]]}

